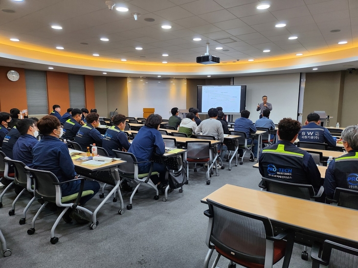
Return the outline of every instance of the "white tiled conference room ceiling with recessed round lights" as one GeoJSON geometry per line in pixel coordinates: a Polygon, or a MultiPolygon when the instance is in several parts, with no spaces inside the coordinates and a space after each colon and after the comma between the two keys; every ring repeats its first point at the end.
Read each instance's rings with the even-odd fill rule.
{"type": "MultiPolygon", "coordinates": [[[[114,9],[108,10],[105,0],[2,0],[0,36],[18,38],[20,41],[14,45],[24,43],[51,49],[62,46],[65,52],[86,57],[95,58],[92,55],[99,54],[99,57],[119,62],[126,59],[132,63],[157,64],[164,64],[163,61],[168,64],[196,64],[196,57],[206,52],[207,42],[210,43],[210,54],[220,57],[220,64],[233,64],[238,60],[247,62],[249,59],[270,60],[280,56],[300,57],[296,54],[314,55],[322,50],[358,45],[356,0],[114,2],[114,9]],[[256,9],[263,3],[269,3],[270,8],[256,9]],[[117,11],[115,8],[121,4],[129,11],[117,11]],[[14,13],[4,12],[4,9],[14,13]],[[135,20],[131,13],[141,15],[135,20]],[[148,18],[154,21],[146,21],[148,18]],[[286,26],[277,28],[275,25],[278,23],[286,26]],[[54,30],[52,25],[63,29],[54,30]],[[163,25],[172,28],[162,29],[163,25]],[[292,36],[298,38],[289,40],[288,37],[292,36]],[[101,41],[103,37],[109,41],[101,41]],[[202,40],[193,41],[193,38],[202,40]],[[347,43],[338,44],[340,41],[347,43]],[[143,50],[136,50],[138,46],[143,50]],[[218,46],[223,49],[216,50],[218,46]],[[264,53],[263,50],[270,52],[264,53]]],[[[0,64],[8,63],[42,69],[41,64],[0,59],[0,64]]],[[[356,66],[356,62],[349,62],[325,67],[326,70],[339,70],[356,66]]],[[[91,70],[77,71],[91,73],[91,70]]],[[[118,74],[124,75],[130,74],[118,74]]]]}

